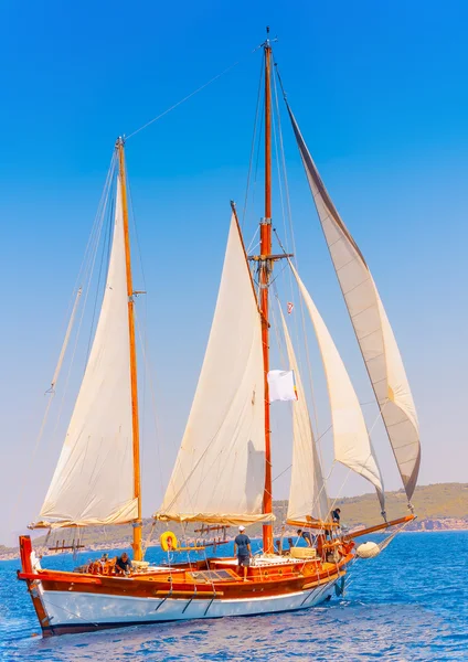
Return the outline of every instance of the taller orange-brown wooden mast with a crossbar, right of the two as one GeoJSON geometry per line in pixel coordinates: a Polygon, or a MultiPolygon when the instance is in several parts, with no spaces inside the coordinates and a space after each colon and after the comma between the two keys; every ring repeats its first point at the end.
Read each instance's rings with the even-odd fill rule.
{"type": "MultiPolygon", "coordinates": [[[[267,28],[267,34],[269,28],[267,28]]],[[[265,371],[265,490],[264,513],[273,512],[272,498],[272,447],[269,429],[269,333],[268,333],[268,280],[273,267],[272,255],[272,95],[270,95],[270,66],[272,46],[267,39],[264,44],[265,51],[265,217],[260,222],[260,311],[262,311],[262,342],[265,371]]],[[[273,525],[264,524],[263,547],[266,554],[274,552],[273,525]]]]}

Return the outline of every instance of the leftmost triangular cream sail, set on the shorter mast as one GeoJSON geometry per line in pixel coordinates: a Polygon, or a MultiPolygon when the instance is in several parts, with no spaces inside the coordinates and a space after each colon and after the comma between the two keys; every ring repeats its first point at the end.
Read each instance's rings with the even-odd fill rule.
{"type": "Polygon", "coordinates": [[[106,289],[41,525],[118,524],[137,517],[128,298],[120,181],[106,289]]]}

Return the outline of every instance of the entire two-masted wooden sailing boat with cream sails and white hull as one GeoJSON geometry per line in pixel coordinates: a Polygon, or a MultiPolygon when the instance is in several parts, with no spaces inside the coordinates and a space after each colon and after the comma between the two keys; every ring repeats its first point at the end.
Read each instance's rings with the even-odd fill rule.
{"type": "MultiPolygon", "coordinates": [[[[158,567],[142,562],[137,356],[134,327],[125,145],[118,139],[116,209],[107,284],[86,372],[65,442],[33,527],[134,525],[130,576],[109,564],[73,573],[41,568],[21,536],[22,569],[44,636],[125,624],[305,609],[329,599],[358,554],[354,538],[405,524],[407,515],[354,536],[330,519],[307,399],[280,312],[298,399],[292,404],[292,472],[287,523],[317,534],[313,547],[274,548],[269,421],[269,284],[287,260],[312,321],[323,360],[336,460],[384,489],[364,418],[334,343],[286,253],[272,253],[272,45],[265,57],[265,216],[260,254],[247,256],[235,207],[206,354],[189,421],[161,506],[160,522],[224,527],[263,522],[263,553],[238,573],[236,559],[205,557],[158,567]],[[257,267],[259,296],[249,261],[257,267]],[[236,489],[232,489],[233,482],[236,489]],[[242,488],[243,485],[243,488],[242,488]]],[[[419,467],[418,425],[392,329],[366,263],[338,215],[287,106],[331,258],[355,330],[408,501],[419,467]]],[[[111,168],[113,170],[113,168],[111,168]]],[[[385,515],[384,515],[385,517],[385,515]]],[[[167,538],[164,538],[167,540],[167,538]]],[[[339,591],[338,591],[339,592],[339,591]]]]}

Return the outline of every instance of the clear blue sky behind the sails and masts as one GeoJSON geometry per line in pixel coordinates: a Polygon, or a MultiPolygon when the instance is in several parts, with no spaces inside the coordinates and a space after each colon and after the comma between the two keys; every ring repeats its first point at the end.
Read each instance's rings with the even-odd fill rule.
{"type": "MultiPolygon", "coordinates": [[[[0,498],[15,503],[24,473],[26,488],[14,516],[0,514],[0,542],[35,516],[61,446],[45,439],[29,466],[114,141],[238,61],[127,143],[158,393],[159,450],[152,414],[143,440],[145,514],[158,505],[203,359],[228,201],[244,200],[260,66],[251,52],[266,24],[302,134],[393,323],[419,412],[421,482],[467,480],[467,20],[461,0],[443,10],[417,0],[2,3],[0,498]]],[[[283,128],[302,278],[366,402],[285,116],[283,128]]],[[[281,227],[277,194],[274,217],[281,227]]],[[[142,280],[137,269],[138,289],[142,280]]],[[[279,473],[288,456],[275,453],[279,473]]],[[[392,469],[387,487],[400,487],[392,469]]],[[[344,490],[359,491],[366,485],[352,480],[344,490]]]]}

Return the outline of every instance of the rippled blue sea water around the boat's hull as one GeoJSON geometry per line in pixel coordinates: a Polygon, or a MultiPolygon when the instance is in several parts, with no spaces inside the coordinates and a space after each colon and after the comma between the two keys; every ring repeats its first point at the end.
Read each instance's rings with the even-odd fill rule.
{"type": "MultiPolygon", "coordinates": [[[[43,565],[71,569],[75,562],[63,555],[43,565]]],[[[468,532],[401,534],[379,557],[355,563],[343,598],[308,610],[50,639],[41,638],[18,568],[0,563],[0,660],[8,662],[468,661],[468,532]]]]}

